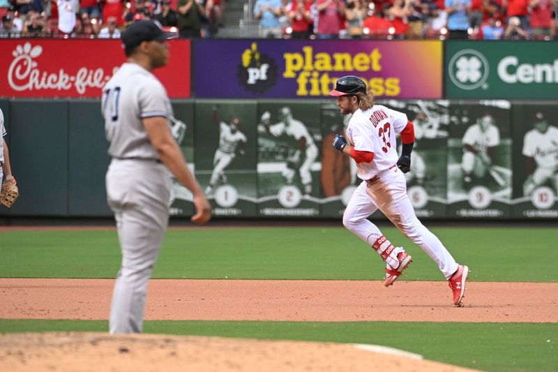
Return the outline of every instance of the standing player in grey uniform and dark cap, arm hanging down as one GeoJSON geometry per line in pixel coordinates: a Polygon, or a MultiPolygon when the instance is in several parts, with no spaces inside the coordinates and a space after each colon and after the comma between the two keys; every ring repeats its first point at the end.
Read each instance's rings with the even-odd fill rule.
{"type": "Polygon", "coordinates": [[[122,42],[127,61],[103,89],[102,113],[112,161],[107,201],[114,211],[122,263],[114,285],[110,333],[142,332],[147,282],[169,219],[169,172],[194,195],[195,223],[211,218],[211,207],[174,141],[172,107],[152,74],[167,64],[167,36],[151,20],[134,22],[122,42]]]}

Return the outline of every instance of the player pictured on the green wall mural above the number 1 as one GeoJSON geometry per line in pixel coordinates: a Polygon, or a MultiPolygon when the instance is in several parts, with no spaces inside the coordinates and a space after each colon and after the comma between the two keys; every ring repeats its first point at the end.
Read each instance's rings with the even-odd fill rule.
{"type": "Polygon", "coordinates": [[[229,124],[225,121],[220,121],[217,114],[217,107],[213,107],[213,122],[219,124],[219,147],[213,156],[213,172],[211,172],[211,179],[209,185],[205,189],[205,193],[209,195],[213,193],[213,188],[220,181],[223,184],[227,183],[227,176],[225,176],[225,168],[236,157],[236,148],[239,147],[239,154],[245,154],[246,135],[239,131],[240,119],[233,117],[229,124]]]}

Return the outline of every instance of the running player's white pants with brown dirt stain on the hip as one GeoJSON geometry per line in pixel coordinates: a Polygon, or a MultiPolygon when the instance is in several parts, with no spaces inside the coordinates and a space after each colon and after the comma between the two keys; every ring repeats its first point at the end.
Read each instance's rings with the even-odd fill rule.
{"type": "Polygon", "coordinates": [[[343,214],[345,228],[369,246],[383,236],[379,228],[366,219],[377,209],[407,238],[421,246],[446,279],[457,271],[458,264],[444,244],[416,218],[407,196],[405,175],[395,165],[372,180],[363,181],[354,191],[343,214]]]}

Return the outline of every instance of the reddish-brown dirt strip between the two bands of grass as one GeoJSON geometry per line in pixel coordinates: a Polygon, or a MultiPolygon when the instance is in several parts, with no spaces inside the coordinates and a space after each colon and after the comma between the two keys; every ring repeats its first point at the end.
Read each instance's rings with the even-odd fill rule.
{"type": "MultiPolygon", "coordinates": [[[[151,280],[146,320],[558,322],[558,283],[151,280]],[[533,311],[536,308],[537,311],[533,311]],[[393,319],[391,314],[399,314],[393,319]]],[[[0,278],[0,318],[106,320],[112,279],[0,278]]]]}

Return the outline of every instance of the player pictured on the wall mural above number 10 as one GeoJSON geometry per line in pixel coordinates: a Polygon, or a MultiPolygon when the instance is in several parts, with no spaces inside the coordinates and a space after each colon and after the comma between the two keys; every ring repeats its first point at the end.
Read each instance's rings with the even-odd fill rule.
{"type": "Polygon", "coordinates": [[[524,195],[550,181],[558,193],[558,128],[549,126],[542,112],[535,114],[534,128],[523,137],[522,154],[527,157],[524,195]],[[534,164],[536,163],[536,169],[534,164]]]}

